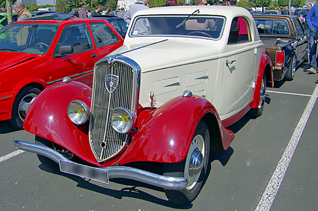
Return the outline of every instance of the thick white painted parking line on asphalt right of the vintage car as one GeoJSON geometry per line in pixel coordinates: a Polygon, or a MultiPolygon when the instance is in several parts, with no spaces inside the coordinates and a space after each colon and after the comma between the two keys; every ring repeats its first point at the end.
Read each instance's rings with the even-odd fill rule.
{"type": "Polygon", "coordinates": [[[290,139],[286,150],[278,162],[278,165],[270,179],[270,181],[267,184],[267,187],[263,193],[262,198],[260,199],[255,211],[269,211],[274,200],[276,197],[276,194],[278,192],[278,189],[283,181],[283,178],[285,176],[285,173],[287,171],[287,168],[289,166],[289,163],[295,153],[296,147],[298,145],[298,142],[303,134],[304,128],[307,124],[307,121],[309,119],[309,116],[313,110],[313,107],[316,103],[318,97],[318,85],[316,85],[316,88],[314,90],[313,95],[311,96],[304,113],[302,117],[300,118],[298,125],[292,135],[292,138],[290,139]]]}

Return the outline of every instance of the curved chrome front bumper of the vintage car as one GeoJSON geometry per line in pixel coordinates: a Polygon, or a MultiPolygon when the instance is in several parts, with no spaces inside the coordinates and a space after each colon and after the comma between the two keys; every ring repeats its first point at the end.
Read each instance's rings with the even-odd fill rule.
{"type": "MultiPolygon", "coordinates": [[[[20,141],[16,138],[14,138],[14,145],[21,150],[31,152],[31,153],[36,153],[36,154],[45,156],[47,158],[50,158],[54,160],[55,162],[59,163],[60,167],[61,167],[60,160],[68,162],[68,163],[81,165],[69,160],[68,158],[65,158],[63,155],[56,152],[55,150],[43,145],[20,141]]],[[[138,168],[132,168],[132,167],[126,167],[126,166],[109,166],[109,167],[103,167],[103,168],[91,167],[91,168],[94,168],[96,170],[101,170],[100,172],[105,172],[105,177],[108,176],[109,179],[114,179],[114,178],[131,179],[131,180],[136,180],[136,181],[143,182],[149,185],[154,185],[160,188],[170,189],[170,190],[182,190],[182,189],[185,189],[188,184],[188,179],[185,177],[162,176],[159,174],[140,170],[138,168]]],[[[69,172],[66,172],[66,173],[69,173],[69,172]]],[[[74,173],[70,173],[70,174],[74,174],[74,173]]],[[[79,174],[75,174],[75,175],[82,176],[79,174]]]]}

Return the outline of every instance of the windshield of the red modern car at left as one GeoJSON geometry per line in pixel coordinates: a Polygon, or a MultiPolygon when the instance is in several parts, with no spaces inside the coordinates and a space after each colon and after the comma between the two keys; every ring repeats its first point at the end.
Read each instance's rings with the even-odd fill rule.
{"type": "Polygon", "coordinates": [[[0,30],[0,51],[44,54],[57,30],[53,24],[10,24],[0,30]]]}

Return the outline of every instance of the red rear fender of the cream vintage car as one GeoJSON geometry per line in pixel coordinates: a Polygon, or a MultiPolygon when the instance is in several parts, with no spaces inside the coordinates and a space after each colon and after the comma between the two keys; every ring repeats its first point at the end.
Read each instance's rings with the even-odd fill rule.
{"type": "MultiPolygon", "coordinates": [[[[259,105],[260,100],[260,88],[262,84],[262,78],[263,74],[266,76],[266,80],[268,80],[268,76],[270,76],[270,81],[272,84],[272,87],[274,86],[274,75],[273,75],[273,65],[270,60],[270,57],[266,55],[265,53],[262,53],[260,64],[258,68],[258,75],[256,79],[256,85],[255,85],[255,91],[254,91],[254,98],[253,101],[250,103],[251,108],[255,108],[259,105]]],[[[266,86],[266,84],[265,84],[266,86]]]]}

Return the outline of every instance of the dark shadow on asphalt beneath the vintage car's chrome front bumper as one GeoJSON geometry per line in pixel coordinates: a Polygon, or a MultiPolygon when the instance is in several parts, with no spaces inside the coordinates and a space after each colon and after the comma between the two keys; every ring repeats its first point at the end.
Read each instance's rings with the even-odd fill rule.
{"type": "MultiPolygon", "coordinates": [[[[175,205],[175,204],[169,202],[168,200],[163,200],[163,199],[160,199],[156,196],[148,194],[144,191],[139,190],[138,187],[149,188],[149,189],[153,189],[153,190],[160,191],[160,192],[163,192],[163,188],[158,188],[156,186],[148,185],[148,184],[141,183],[141,182],[136,182],[136,181],[133,181],[130,179],[111,179],[110,180],[111,182],[131,186],[131,187],[122,188],[121,190],[114,190],[114,189],[105,188],[105,187],[90,183],[89,182],[90,179],[86,179],[86,178],[84,179],[84,178],[81,178],[79,176],[67,174],[67,173],[63,173],[63,172],[50,171],[50,170],[46,169],[42,164],[39,165],[39,168],[44,170],[44,171],[54,173],[57,175],[61,175],[61,176],[65,176],[69,179],[72,179],[78,183],[77,187],[79,187],[79,188],[94,191],[96,193],[104,194],[104,195],[107,195],[110,197],[114,197],[116,199],[122,199],[124,197],[135,198],[135,199],[140,199],[140,200],[144,200],[147,202],[155,203],[155,204],[158,204],[158,205],[161,205],[164,207],[180,209],[180,210],[191,209],[193,206],[193,204],[188,204],[185,206],[175,205]]],[[[102,183],[100,183],[100,184],[102,184],[102,183]]]]}

